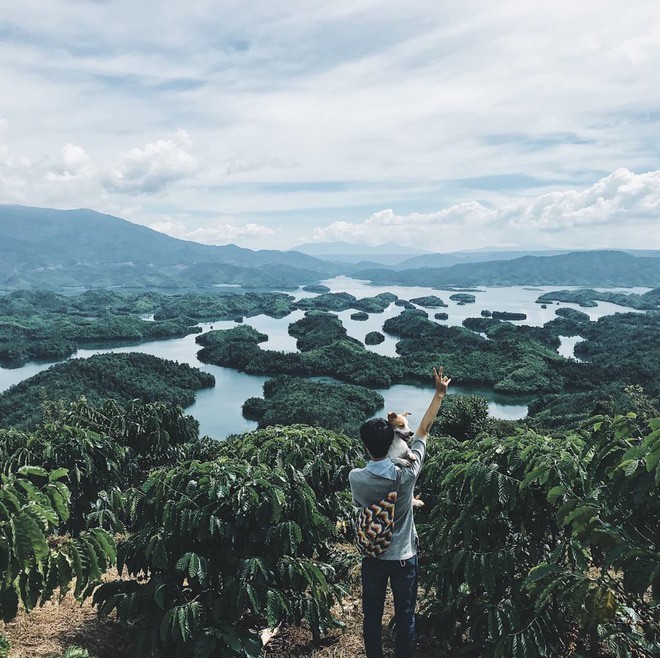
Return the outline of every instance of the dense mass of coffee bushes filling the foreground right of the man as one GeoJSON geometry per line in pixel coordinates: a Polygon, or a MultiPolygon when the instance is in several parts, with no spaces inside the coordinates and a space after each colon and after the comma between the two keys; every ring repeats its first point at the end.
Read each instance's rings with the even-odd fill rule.
{"type": "Polygon", "coordinates": [[[660,419],[596,419],[588,436],[449,440],[420,479],[428,623],[466,656],[602,649],[660,638],[660,419]]]}

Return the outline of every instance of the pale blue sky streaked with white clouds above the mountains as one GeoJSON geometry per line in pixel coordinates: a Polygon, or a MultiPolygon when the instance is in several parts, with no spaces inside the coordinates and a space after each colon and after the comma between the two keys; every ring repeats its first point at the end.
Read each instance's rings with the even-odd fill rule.
{"type": "Polygon", "coordinates": [[[657,0],[21,0],[0,203],[207,244],[660,249],[657,0]]]}

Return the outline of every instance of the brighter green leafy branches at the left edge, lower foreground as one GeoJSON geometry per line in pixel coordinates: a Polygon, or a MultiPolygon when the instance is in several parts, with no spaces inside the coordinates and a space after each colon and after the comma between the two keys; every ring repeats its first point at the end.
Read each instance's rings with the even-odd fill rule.
{"type": "Polygon", "coordinates": [[[77,538],[51,535],[69,518],[70,492],[65,469],[48,472],[22,466],[3,474],[0,488],[0,616],[12,620],[19,604],[31,610],[55,590],[70,589],[78,599],[90,594],[114,562],[115,546],[105,530],[94,528],[77,538]]]}

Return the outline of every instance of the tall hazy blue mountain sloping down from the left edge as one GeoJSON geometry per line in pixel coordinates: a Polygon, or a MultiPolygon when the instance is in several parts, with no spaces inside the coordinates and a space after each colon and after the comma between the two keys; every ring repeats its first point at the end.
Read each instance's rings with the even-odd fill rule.
{"type": "Polygon", "coordinates": [[[203,245],[93,210],[0,205],[0,288],[298,285],[337,273],[296,251],[203,245]],[[269,279],[271,277],[271,279],[269,279]]]}

